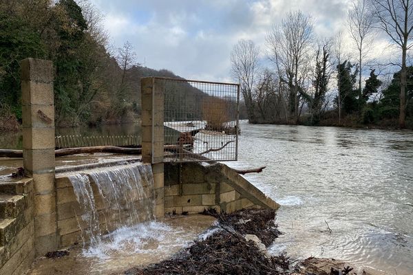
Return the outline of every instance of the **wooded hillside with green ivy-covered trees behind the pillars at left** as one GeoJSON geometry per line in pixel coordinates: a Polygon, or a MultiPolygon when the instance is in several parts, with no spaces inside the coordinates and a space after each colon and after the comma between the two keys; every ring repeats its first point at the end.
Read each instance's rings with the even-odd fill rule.
{"type": "MultiPolygon", "coordinates": [[[[178,77],[140,66],[128,42],[112,49],[102,18],[89,1],[0,0],[0,121],[21,120],[19,62],[28,57],[53,61],[58,126],[132,122],[140,116],[140,78],[178,77]]],[[[183,87],[172,100],[203,94],[183,87]]]]}

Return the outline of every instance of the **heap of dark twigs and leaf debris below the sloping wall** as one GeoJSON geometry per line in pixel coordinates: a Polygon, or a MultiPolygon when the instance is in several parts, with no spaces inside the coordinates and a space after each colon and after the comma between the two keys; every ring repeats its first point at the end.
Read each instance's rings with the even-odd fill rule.
{"type": "Polygon", "coordinates": [[[215,215],[222,230],[198,240],[175,258],[145,268],[132,268],[126,275],[147,274],[282,274],[288,270],[285,254],[268,256],[245,234],[255,234],[266,246],[277,238],[274,210],[241,210],[215,215]]]}

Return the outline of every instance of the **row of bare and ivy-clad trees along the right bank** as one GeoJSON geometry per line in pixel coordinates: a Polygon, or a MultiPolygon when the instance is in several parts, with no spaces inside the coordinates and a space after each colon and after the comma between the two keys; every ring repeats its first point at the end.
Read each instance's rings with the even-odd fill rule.
{"type": "Polygon", "coordinates": [[[241,83],[248,120],[413,129],[413,67],[408,65],[413,2],[352,1],[347,26],[352,52],[344,49],[349,43],[343,43],[343,34],[317,37],[313,25],[310,15],[289,12],[268,30],[264,50],[251,40],[234,45],[233,78],[241,83]],[[396,51],[396,59],[386,64],[372,52],[380,33],[396,51]],[[263,55],[271,66],[262,65],[263,55]]]}

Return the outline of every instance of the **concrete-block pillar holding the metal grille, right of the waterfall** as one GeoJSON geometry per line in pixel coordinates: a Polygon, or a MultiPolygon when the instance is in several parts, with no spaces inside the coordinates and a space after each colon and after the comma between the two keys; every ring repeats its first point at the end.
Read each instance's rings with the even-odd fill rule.
{"type": "Polygon", "coordinates": [[[156,217],[164,215],[164,94],[163,83],[142,78],[142,162],[152,164],[156,217]]]}

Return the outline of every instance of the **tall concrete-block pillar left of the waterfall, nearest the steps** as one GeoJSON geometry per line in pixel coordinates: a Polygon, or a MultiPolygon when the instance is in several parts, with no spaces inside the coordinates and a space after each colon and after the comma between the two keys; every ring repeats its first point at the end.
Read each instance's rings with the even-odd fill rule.
{"type": "Polygon", "coordinates": [[[34,181],[36,256],[57,249],[53,75],[52,61],[21,61],[23,168],[34,181]]]}

